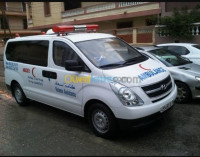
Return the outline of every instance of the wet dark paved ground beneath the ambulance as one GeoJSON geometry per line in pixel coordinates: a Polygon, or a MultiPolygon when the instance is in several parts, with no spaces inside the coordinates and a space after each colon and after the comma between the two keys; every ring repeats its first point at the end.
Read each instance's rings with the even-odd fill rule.
{"type": "Polygon", "coordinates": [[[198,100],[176,104],[161,121],[105,140],[78,116],[37,102],[18,106],[1,82],[0,155],[200,155],[199,115],[198,100]]]}

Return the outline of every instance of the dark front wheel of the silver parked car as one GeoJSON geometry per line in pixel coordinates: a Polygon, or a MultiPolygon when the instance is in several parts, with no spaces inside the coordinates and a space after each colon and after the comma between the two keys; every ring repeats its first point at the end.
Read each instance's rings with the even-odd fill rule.
{"type": "Polygon", "coordinates": [[[177,85],[177,97],[176,103],[187,103],[191,99],[191,91],[188,86],[182,82],[176,82],[177,85]]]}

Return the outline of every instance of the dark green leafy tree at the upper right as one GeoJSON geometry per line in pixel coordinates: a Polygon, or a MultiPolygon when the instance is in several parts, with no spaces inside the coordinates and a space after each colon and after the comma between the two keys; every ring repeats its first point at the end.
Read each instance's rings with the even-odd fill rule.
{"type": "Polygon", "coordinates": [[[191,25],[195,22],[200,22],[200,6],[188,11],[185,7],[181,11],[174,9],[172,16],[165,16],[160,19],[159,28],[164,34],[168,34],[175,40],[192,39],[191,25]]]}

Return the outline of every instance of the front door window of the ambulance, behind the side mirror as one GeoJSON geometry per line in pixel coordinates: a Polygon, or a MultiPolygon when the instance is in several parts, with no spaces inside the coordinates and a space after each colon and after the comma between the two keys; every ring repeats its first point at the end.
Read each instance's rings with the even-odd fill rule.
{"type": "Polygon", "coordinates": [[[53,42],[53,60],[55,65],[61,67],[65,67],[66,60],[78,60],[81,62],[76,52],[69,45],[61,41],[53,42]]]}

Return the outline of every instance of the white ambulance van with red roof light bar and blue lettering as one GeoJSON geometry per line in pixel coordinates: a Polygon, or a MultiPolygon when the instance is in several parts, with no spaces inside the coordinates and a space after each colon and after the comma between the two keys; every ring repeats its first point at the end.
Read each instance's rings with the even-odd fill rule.
{"type": "Polygon", "coordinates": [[[98,25],[8,40],[5,82],[16,102],[35,100],[86,117],[97,136],[149,123],[174,104],[168,70],[98,25]]]}

